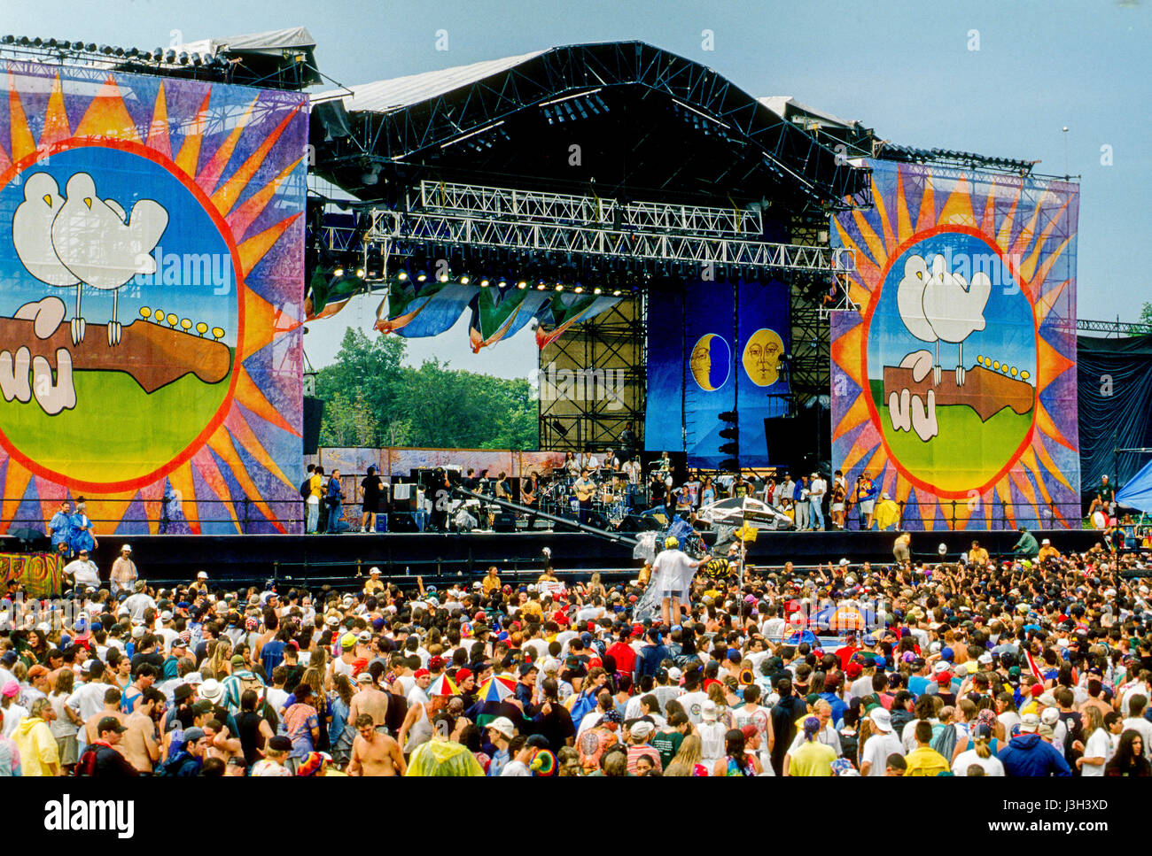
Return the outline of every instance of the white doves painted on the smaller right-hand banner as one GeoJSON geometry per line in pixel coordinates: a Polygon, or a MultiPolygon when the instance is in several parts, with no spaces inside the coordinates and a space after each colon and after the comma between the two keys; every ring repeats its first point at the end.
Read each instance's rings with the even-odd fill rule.
{"type": "Polygon", "coordinates": [[[935,342],[933,383],[940,383],[940,342],[960,345],[956,385],[964,384],[964,339],[985,327],[984,307],[992,293],[992,282],[983,270],[969,285],[964,277],[947,269],[940,253],[932,258],[932,269],[922,255],[904,262],[904,276],[896,286],[896,308],[904,327],[922,342],[935,342]]]}

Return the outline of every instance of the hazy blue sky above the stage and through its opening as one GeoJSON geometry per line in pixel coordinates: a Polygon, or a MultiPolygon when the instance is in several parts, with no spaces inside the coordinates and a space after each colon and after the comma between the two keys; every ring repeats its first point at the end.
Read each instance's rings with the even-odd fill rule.
{"type": "MultiPolygon", "coordinates": [[[[1152,186],[1147,72],[1152,10],[1137,0],[882,3],[809,0],[235,0],[121,2],[3,0],[0,33],[85,39],[151,49],[185,40],[305,25],[321,71],[346,84],[461,66],[552,45],[643,39],[704,62],[753,95],[793,95],[876,128],[886,139],[1040,159],[1038,170],[1081,176],[1078,314],[1132,320],[1152,283],[1140,254],[1152,186]],[[447,30],[448,51],[437,51],[447,30]],[[713,51],[702,31],[713,33],[713,51]],[[978,51],[972,31],[977,31],[978,51]],[[1068,127],[1067,135],[1062,132],[1068,127]],[[1111,147],[1101,152],[1102,146],[1111,147]],[[1111,166],[1101,163],[1111,152],[1111,166]]],[[[355,301],[312,324],[305,349],[331,361],[355,301]]],[[[457,368],[524,376],[530,331],[472,356],[467,318],[409,354],[457,368]]]]}

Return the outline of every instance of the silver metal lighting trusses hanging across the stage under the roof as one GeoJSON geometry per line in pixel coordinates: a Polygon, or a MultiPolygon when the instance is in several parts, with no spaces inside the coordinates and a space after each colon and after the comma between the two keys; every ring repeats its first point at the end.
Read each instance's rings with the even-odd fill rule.
{"type": "Polygon", "coordinates": [[[855,268],[850,250],[752,239],[745,231],[744,216],[749,223],[758,222],[759,214],[753,211],[740,214],[720,208],[627,202],[619,209],[620,217],[606,222],[604,200],[596,197],[435,183],[422,185],[419,201],[423,209],[372,209],[366,240],[389,247],[418,242],[567,258],[623,258],[829,275],[855,268]],[[627,222],[624,215],[632,221],[627,222]],[[680,224],[705,227],[712,234],[681,231],[680,224]]]}

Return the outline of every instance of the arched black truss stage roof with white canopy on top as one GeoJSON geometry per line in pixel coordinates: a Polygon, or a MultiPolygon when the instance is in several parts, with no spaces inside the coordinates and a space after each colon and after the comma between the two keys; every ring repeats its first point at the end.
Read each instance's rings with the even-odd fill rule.
{"type": "Polygon", "coordinates": [[[419,178],[826,211],[866,193],[839,137],[639,41],[569,45],[318,95],[314,171],[399,204],[419,178]]]}

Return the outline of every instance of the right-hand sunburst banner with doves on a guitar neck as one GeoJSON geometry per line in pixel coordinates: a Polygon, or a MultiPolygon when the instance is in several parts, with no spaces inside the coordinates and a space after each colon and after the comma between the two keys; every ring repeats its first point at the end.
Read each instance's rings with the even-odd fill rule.
{"type": "Polygon", "coordinates": [[[889,494],[908,529],[1078,527],[1078,186],[867,166],[874,208],[831,226],[856,255],[858,311],[831,315],[849,497],[889,494]]]}

